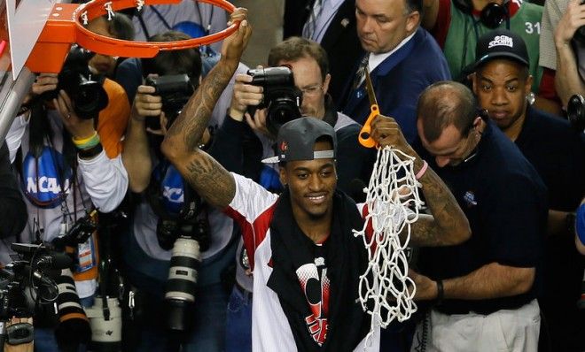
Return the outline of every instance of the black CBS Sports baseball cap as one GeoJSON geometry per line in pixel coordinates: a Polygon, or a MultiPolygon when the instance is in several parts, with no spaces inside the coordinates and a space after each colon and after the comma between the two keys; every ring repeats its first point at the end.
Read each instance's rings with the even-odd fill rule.
{"type": "Polygon", "coordinates": [[[511,58],[522,65],[530,65],[526,42],[507,29],[495,29],[480,36],[475,47],[473,71],[494,58],[511,58]]]}

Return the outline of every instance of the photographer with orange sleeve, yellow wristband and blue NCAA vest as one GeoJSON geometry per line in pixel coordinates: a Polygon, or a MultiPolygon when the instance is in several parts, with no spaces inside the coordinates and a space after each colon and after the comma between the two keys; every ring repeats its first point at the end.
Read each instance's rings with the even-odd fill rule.
{"type": "MultiPolygon", "coordinates": [[[[88,60],[87,52],[73,47],[59,75],[41,73],[6,137],[28,201],[20,241],[51,244],[88,220],[94,208],[116,209],[128,187],[121,136],[129,103],[113,80],[90,74],[88,60]]],[[[97,287],[98,248],[92,232],[80,243],[67,243],[77,263],[76,294],[85,306],[97,287]]],[[[52,324],[35,328],[37,350],[56,351],[57,342],[64,348],[89,339],[85,320],[83,333],[59,330],[66,325],[58,325],[57,342],[52,324]]]]}

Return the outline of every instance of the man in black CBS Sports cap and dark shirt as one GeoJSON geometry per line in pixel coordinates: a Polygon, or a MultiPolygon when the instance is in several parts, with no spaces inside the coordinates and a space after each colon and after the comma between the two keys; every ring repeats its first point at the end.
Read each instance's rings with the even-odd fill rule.
{"type": "Polygon", "coordinates": [[[579,318],[575,302],[581,295],[583,258],[574,249],[573,226],[574,211],[585,194],[585,136],[565,119],[529,103],[530,61],[518,34],[506,30],[484,34],[476,57],[472,81],[480,107],[519,147],[548,187],[544,280],[539,302],[549,323],[552,346],[581,350],[585,348],[585,322],[579,318]]]}

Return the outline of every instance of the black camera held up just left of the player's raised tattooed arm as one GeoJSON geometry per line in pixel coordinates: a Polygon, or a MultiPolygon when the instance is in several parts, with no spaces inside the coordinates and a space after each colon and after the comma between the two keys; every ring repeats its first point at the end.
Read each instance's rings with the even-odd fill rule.
{"type": "MultiPolygon", "coordinates": [[[[195,91],[191,79],[184,73],[147,77],[145,84],[154,87],[154,94],[162,99],[162,111],[168,119],[167,128],[173,124],[195,91]]],[[[146,119],[146,126],[152,130],[160,130],[160,120],[146,119]]]]}

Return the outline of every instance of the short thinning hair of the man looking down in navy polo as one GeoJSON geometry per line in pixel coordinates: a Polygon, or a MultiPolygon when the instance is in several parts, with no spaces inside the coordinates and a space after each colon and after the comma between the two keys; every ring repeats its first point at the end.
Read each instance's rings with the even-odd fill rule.
{"type": "Polygon", "coordinates": [[[441,80],[425,88],[417,103],[417,119],[423,122],[425,140],[436,141],[450,125],[462,136],[468,134],[478,116],[477,106],[472,91],[461,83],[441,80]]]}

